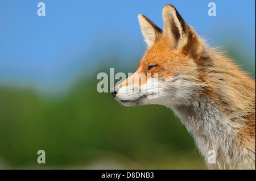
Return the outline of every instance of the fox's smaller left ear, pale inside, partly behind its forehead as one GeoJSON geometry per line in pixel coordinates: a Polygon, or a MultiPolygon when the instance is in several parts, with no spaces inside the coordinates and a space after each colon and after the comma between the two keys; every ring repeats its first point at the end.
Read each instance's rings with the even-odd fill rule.
{"type": "Polygon", "coordinates": [[[156,40],[162,38],[163,31],[156,26],[155,23],[151,22],[147,16],[139,14],[138,19],[139,24],[141,25],[142,35],[144,36],[144,40],[146,41],[148,47],[154,44],[156,40]]]}

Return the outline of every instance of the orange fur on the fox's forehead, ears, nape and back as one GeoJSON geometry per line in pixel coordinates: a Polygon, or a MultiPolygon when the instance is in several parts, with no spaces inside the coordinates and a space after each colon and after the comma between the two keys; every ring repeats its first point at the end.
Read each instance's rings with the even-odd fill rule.
{"type": "MultiPolygon", "coordinates": [[[[240,164],[237,162],[243,162],[241,163],[241,167],[255,168],[255,80],[251,79],[239,66],[234,64],[234,61],[226,57],[224,53],[209,48],[204,40],[200,39],[196,34],[195,30],[185,23],[175,7],[171,5],[164,6],[163,32],[146,16],[139,15],[139,19],[142,22],[143,35],[149,44],[146,53],[138,65],[136,73],[158,73],[158,78],[166,82],[179,74],[185,74],[182,80],[196,85],[196,90],[198,91],[196,94],[198,96],[196,96],[196,99],[191,96],[192,103],[188,106],[180,103],[174,106],[174,108],[179,110],[179,108],[185,107],[189,110],[193,106],[193,102],[209,102],[210,106],[213,105],[214,107],[213,111],[218,110],[218,112],[221,112],[217,120],[221,120],[224,128],[230,131],[229,135],[233,135],[230,137],[230,140],[235,140],[229,143],[230,148],[233,150],[225,150],[225,145],[216,146],[218,155],[223,158],[219,161],[218,168],[222,165],[225,167],[225,164],[229,168],[240,167],[236,166],[240,164]],[[155,38],[153,39],[153,37],[155,38]],[[155,68],[147,70],[148,66],[151,65],[154,65],[155,68]],[[223,148],[220,146],[223,146],[223,148]],[[254,155],[254,158],[251,158],[251,155],[254,155]],[[236,158],[234,158],[235,156],[236,158]],[[234,165],[232,165],[233,162],[229,162],[229,159],[234,159],[234,165]],[[254,159],[254,163],[251,163],[250,159],[254,159]]],[[[136,76],[138,75],[132,75],[123,82],[124,84],[121,83],[117,87],[120,89],[123,85],[133,85],[136,76]]],[[[145,84],[147,77],[145,80],[139,83],[138,86],[145,84]]],[[[163,94],[166,94],[165,92],[167,91],[164,91],[163,94]]],[[[195,92],[191,94],[193,95],[195,92]]],[[[144,98],[144,96],[141,97],[144,98]]],[[[160,100],[153,103],[161,104],[161,101],[163,102],[163,100],[160,100]]],[[[136,105],[138,104],[142,103],[138,102],[136,105]]],[[[163,104],[166,103],[164,102],[163,104]]],[[[185,108],[178,112],[181,112],[182,115],[182,112],[187,111],[185,108]]],[[[210,112],[205,112],[205,114],[211,115],[210,112]]],[[[200,122],[202,120],[197,120],[195,118],[197,115],[193,116],[191,117],[195,119],[195,123],[199,121],[197,124],[204,127],[204,123],[200,122]]],[[[186,114],[184,117],[186,117],[186,114]]],[[[188,119],[191,119],[191,117],[188,119]]],[[[219,123],[214,123],[214,117],[210,117],[210,119],[213,119],[213,126],[209,125],[209,128],[206,127],[205,132],[212,128],[218,129],[218,127],[216,128],[214,126],[219,123]]],[[[192,127],[192,132],[197,129],[194,126],[189,125],[189,129],[192,127]]],[[[205,134],[205,132],[203,133],[205,134]]],[[[210,137],[217,137],[216,140],[218,140],[218,135],[214,134],[216,133],[213,130],[210,137]]],[[[219,140],[221,140],[221,135],[219,137],[219,140]]],[[[200,138],[204,137],[201,136],[200,138]]],[[[229,140],[228,137],[224,138],[224,142],[227,140],[229,140]]],[[[208,145],[209,147],[212,146],[210,143],[208,145]]]]}

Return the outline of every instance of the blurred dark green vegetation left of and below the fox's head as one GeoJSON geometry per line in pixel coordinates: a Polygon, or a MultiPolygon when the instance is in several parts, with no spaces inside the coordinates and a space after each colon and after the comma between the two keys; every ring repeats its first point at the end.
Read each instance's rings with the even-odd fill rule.
{"type": "Polygon", "coordinates": [[[101,169],[204,168],[171,110],[124,107],[110,93],[98,93],[96,85],[82,81],[61,100],[2,87],[0,162],[14,169],[97,169],[105,160],[101,169]],[[46,151],[44,165],[37,163],[40,149],[46,151]]]}

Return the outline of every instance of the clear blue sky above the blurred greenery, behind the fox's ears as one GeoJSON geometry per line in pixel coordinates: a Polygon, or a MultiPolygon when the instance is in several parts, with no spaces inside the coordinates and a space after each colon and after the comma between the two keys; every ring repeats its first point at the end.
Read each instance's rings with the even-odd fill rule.
{"type": "Polygon", "coordinates": [[[162,28],[167,3],[199,35],[213,37],[213,45],[234,40],[255,65],[255,1],[1,0],[0,85],[65,89],[81,71],[97,70],[99,58],[113,50],[127,64],[146,48],[137,15],[162,28]],[[38,2],[45,3],[46,16],[37,15],[38,2]],[[217,16],[208,16],[209,2],[216,3],[217,16]]]}

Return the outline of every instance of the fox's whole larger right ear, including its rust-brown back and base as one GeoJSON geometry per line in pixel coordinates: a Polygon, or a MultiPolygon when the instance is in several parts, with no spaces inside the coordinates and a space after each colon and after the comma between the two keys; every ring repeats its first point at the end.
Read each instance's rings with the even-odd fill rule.
{"type": "Polygon", "coordinates": [[[203,50],[201,40],[195,30],[185,23],[174,6],[164,6],[163,20],[163,39],[168,41],[170,47],[190,55],[195,60],[199,59],[203,50]]]}

